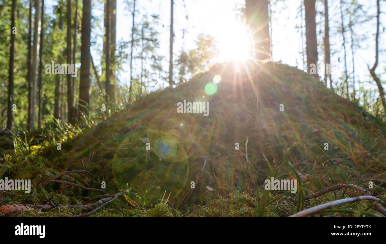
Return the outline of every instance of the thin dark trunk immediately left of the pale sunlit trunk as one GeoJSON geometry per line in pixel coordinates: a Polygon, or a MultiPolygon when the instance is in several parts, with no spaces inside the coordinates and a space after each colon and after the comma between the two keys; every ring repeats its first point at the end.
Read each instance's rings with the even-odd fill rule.
{"type": "Polygon", "coordinates": [[[29,0],[29,32],[28,32],[28,72],[27,72],[27,86],[28,86],[28,121],[27,130],[31,130],[32,124],[32,0],[29,0]]]}

